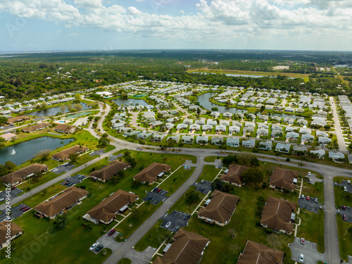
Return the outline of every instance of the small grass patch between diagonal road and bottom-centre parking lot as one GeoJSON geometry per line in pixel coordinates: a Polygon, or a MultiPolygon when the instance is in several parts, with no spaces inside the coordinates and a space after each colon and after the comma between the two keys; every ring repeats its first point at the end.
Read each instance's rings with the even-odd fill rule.
{"type": "Polygon", "coordinates": [[[172,236],[172,232],[160,227],[162,223],[163,220],[158,220],[156,225],[154,225],[151,230],[149,230],[149,232],[138,241],[138,243],[134,246],[134,249],[137,251],[144,251],[144,249],[148,246],[158,249],[165,239],[169,239],[172,236]]]}

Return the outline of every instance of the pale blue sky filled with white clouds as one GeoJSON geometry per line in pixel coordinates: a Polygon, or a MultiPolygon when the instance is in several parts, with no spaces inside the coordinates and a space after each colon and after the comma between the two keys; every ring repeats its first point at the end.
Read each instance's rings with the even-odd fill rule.
{"type": "Polygon", "coordinates": [[[0,51],[352,50],[351,0],[1,0],[0,51]]]}

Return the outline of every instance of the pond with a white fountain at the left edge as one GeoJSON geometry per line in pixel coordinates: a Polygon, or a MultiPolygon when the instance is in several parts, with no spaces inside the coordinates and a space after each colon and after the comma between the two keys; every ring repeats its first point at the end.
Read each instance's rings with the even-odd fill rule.
{"type": "Polygon", "coordinates": [[[0,164],[12,161],[15,165],[20,165],[34,157],[42,149],[54,150],[63,147],[74,139],[56,139],[53,137],[39,137],[14,146],[6,146],[0,149],[0,164]],[[63,144],[60,144],[63,142],[63,144]]]}

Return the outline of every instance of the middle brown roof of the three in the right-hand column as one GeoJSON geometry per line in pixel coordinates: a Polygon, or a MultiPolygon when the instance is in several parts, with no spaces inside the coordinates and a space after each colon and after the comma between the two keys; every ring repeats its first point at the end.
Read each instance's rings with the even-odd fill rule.
{"type": "Polygon", "coordinates": [[[290,222],[291,213],[297,210],[297,203],[284,199],[269,197],[263,208],[260,223],[268,225],[273,230],[292,232],[294,224],[290,222]]]}

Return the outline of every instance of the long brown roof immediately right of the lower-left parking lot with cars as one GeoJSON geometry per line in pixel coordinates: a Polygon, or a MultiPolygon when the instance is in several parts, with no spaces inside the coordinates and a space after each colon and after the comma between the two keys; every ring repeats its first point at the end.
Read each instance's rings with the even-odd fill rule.
{"type": "Polygon", "coordinates": [[[69,187],[68,189],[65,189],[62,194],[59,194],[50,201],[39,203],[34,207],[34,210],[37,210],[43,215],[51,217],[61,213],[63,210],[65,210],[65,208],[73,206],[79,199],[81,199],[83,196],[86,196],[88,193],[88,191],[81,188],[74,186],[69,187]]]}

